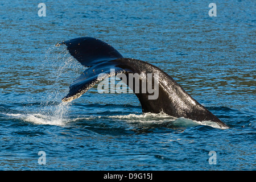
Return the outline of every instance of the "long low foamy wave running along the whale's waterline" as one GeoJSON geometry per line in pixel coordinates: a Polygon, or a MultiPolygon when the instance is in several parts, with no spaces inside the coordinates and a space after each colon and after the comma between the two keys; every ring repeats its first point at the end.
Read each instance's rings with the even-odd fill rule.
{"type": "Polygon", "coordinates": [[[56,125],[56,126],[66,126],[71,123],[83,122],[83,121],[99,121],[105,119],[109,121],[125,121],[133,125],[139,125],[144,127],[193,127],[198,125],[211,126],[217,129],[224,129],[218,126],[217,123],[212,121],[193,121],[186,118],[175,118],[164,113],[145,113],[145,114],[128,114],[128,115],[87,115],[84,117],[69,118],[64,117],[61,113],[59,114],[45,114],[45,113],[35,113],[35,114],[5,114],[7,117],[20,119],[24,122],[30,122],[35,125],[56,125]]]}

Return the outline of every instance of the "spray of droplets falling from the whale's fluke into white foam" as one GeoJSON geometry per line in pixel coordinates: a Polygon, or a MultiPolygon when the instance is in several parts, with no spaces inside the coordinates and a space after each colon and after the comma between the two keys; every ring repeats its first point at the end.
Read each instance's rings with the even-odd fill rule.
{"type": "MultiPolygon", "coordinates": [[[[67,49],[56,46],[48,48],[39,68],[40,75],[36,75],[38,85],[33,85],[38,88],[40,105],[32,114],[12,116],[38,125],[66,125],[70,121],[71,103],[61,102],[61,98],[67,94],[68,85],[74,80],[72,75],[77,75],[82,68],[67,49]]],[[[31,113],[28,109],[27,113],[31,113]]]]}

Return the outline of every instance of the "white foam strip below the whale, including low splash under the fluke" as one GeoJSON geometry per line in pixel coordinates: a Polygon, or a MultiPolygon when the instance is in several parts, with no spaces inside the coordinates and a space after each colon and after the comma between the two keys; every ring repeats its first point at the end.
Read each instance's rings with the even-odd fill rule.
{"type": "MultiPolygon", "coordinates": [[[[56,106],[55,112],[52,114],[6,114],[9,117],[22,119],[26,122],[34,123],[35,125],[57,125],[57,126],[65,126],[67,123],[76,122],[78,120],[94,120],[100,119],[102,116],[89,116],[89,117],[79,117],[74,119],[69,119],[65,113],[68,108],[67,104],[60,104],[56,106]],[[67,107],[64,107],[64,106],[67,107]]],[[[127,123],[141,123],[141,124],[156,124],[161,125],[167,123],[170,127],[193,127],[197,125],[206,125],[211,126],[217,129],[227,129],[224,127],[219,126],[216,122],[212,121],[193,121],[191,119],[186,118],[175,118],[171,117],[170,115],[164,113],[145,113],[145,114],[129,114],[129,115],[111,115],[111,116],[104,116],[104,118],[112,118],[115,120],[122,120],[127,123]]]]}

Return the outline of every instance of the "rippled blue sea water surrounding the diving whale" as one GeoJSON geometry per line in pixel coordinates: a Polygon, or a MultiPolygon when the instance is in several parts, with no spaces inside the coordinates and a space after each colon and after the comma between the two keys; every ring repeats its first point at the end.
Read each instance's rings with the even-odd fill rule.
{"type": "Polygon", "coordinates": [[[0,2],[1,170],[255,170],[254,1],[44,3],[0,2]],[[61,103],[84,68],[54,45],[80,36],[162,68],[230,129],[96,88],[61,103]]]}

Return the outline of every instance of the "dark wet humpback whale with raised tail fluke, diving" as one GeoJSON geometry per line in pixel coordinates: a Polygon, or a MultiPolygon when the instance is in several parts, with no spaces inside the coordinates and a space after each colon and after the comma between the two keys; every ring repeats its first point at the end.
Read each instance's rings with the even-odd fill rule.
{"type": "MultiPolygon", "coordinates": [[[[96,38],[80,37],[58,43],[56,46],[62,44],[67,46],[69,53],[77,61],[88,68],[69,86],[69,93],[62,99],[63,102],[79,98],[105,78],[118,74],[151,73],[152,77],[158,76],[155,79],[158,81],[158,98],[150,100],[148,96],[151,93],[134,92],[141,102],[143,113],[163,112],[176,118],[184,117],[199,122],[212,121],[221,128],[228,128],[160,68],[142,60],[125,58],[114,47],[96,38]]],[[[126,84],[134,90],[134,85],[129,85],[129,79],[126,80],[126,84]]],[[[142,89],[140,84],[140,90],[142,89]]]]}

